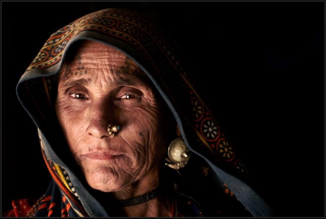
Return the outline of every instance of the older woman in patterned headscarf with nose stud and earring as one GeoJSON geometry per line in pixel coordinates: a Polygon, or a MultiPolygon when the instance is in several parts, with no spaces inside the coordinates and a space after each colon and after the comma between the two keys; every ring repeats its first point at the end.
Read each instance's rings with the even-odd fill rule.
{"type": "Polygon", "coordinates": [[[52,34],[17,85],[50,183],[6,216],[270,216],[153,21],[105,9],[52,34]]]}

